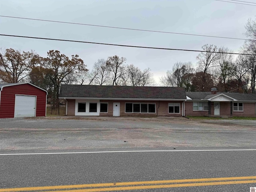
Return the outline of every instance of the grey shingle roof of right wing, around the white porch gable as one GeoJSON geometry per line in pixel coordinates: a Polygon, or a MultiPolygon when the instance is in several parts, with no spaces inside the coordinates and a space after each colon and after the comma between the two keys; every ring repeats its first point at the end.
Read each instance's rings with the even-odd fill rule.
{"type": "Polygon", "coordinates": [[[256,101],[256,94],[242,94],[242,93],[225,93],[217,92],[216,94],[211,94],[211,92],[186,92],[186,95],[193,100],[209,99],[220,94],[224,94],[231,98],[240,101],[256,101]]]}

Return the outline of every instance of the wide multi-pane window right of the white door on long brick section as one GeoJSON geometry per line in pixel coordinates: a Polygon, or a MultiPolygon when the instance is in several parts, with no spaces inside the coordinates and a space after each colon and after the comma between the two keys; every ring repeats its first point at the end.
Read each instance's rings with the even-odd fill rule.
{"type": "Polygon", "coordinates": [[[156,104],[154,103],[126,103],[126,113],[155,113],[156,104]]]}

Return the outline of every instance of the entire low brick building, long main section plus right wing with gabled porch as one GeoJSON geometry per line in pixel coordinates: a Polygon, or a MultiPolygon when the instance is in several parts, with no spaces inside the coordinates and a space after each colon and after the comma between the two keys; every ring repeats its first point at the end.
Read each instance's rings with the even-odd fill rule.
{"type": "Polygon", "coordinates": [[[69,116],[256,116],[256,94],[185,92],[179,87],[66,85],[69,116]]]}

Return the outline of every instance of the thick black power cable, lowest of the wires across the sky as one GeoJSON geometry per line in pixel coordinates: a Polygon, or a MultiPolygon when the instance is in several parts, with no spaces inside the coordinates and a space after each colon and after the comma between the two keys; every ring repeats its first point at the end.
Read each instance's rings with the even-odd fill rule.
{"type": "Polygon", "coordinates": [[[244,53],[229,53],[229,52],[200,51],[200,50],[189,50],[189,49],[173,49],[173,48],[159,48],[159,47],[132,46],[132,45],[120,45],[120,44],[109,44],[109,43],[97,43],[97,42],[86,42],[86,41],[65,40],[65,39],[52,39],[52,38],[31,37],[31,36],[7,35],[7,34],[0,34],[0,36],[22,37],[22,38],[32,38],[32,39],[42,39],[42,40],[55,40],[55,41],[67,41],[67,42],[77,42],[77,43],[90,43],[90,44],[112,45],[112,46],[133,47],[133,48],[148,48],[148,49],[176,50],[176,51],[191,51],[191,52],[210,52],[210,53],[222,53],[222,54],[235,54],[235,55],[251,55],[251,56],[255,56],[254,54],[244,54],[244,53]]]}

